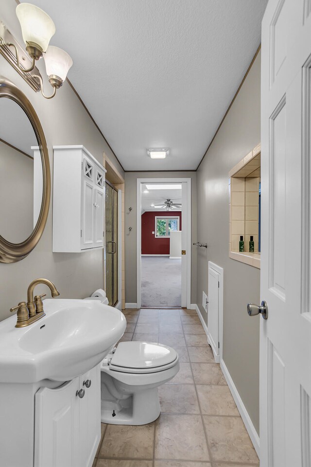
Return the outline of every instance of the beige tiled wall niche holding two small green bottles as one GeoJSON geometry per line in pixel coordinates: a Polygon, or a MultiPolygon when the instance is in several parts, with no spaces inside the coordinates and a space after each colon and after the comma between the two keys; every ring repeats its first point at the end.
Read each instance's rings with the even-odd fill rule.
{"type": "Polygon", "coordinates": [[[229,172],[229,256],[260,268],[258,252],[260,144],[229,172]],[[239,252],[240,235],[244,252],[239,252]],[[250,236],[254,237],[254,253],[249,252],[250,236]]]}

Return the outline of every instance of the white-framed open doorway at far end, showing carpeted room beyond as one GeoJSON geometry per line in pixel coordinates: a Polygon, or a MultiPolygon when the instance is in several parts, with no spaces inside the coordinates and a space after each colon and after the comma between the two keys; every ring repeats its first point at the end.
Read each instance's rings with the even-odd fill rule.
{"type": "Polygon", "coordinates": [[[190,308],[191,179],[138,179],[137,213],[137,307],[190,308]],[[157,189],[155,185],[158,185],[157,189]],[[141,216],[146,212],[146,206],[142,195],[145,191],[160,193],[160,190],[168,190],[168,185],[173,185],[172,193],[176,185],[179,186],[179,198],[162,196],[163,199],[156,200],[158,204],[149,203],[149,211],[154,213],[149,234],[159,251],[146,255],[141,216]],[[158,209],[161,211],[157,212],[158,209]],[[175,249],[173,243],[177,245],[175,249]],[[151,297],[148,288],[153,290],[151,297]]]}

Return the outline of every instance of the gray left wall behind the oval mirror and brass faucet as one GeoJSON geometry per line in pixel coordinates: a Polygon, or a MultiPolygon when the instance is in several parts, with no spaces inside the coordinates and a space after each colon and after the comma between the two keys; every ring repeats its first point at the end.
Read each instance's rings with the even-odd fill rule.
{"type": "MultiPolygon", "coordinates": [[[[15,8],[15,0],[1,1],[0,18],[23,43],[15,8]]],[[[44,75],[44,63],[39,62],[38,67],[44,75]]],[[[2,56],[0,70],[1,75],[20,88],[34,106],[47,140],[51,169],[53,145],[84,144],[100,162],[103,162],[105,152],[123,175],[119,163],[68,83],[65,82],[56,97],[49,101],[39,92],[35,93],[2,56]]],[[[0,225],[2,221],[0,219],[0,225]]],[[[10,307],[26,299],[27,287],[37,277],[52,280],[61,293],[60,298],[83,298],[104,284],[103,250],[52,253],[52,200],[45,231],[35,250],[18,263],[0,263],[0,320],[10,315],[10,307]]],[[[45,288],[38,287],[35,291],[42,293],[43,290],[45,288]]]]}

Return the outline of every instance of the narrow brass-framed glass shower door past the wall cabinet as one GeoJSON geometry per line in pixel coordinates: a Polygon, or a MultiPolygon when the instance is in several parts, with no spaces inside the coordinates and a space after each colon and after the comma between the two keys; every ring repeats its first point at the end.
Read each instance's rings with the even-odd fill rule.
{"type": "Polygon", "coordinates": [[[105,184],[106,296],[109,305],[118,302],[118,191],[105,184]]]}

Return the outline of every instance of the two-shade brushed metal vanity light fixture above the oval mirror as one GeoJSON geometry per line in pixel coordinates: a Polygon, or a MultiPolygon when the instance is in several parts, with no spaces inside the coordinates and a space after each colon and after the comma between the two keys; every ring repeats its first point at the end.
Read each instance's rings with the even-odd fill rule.
{"type": "MultiPolygon", "coordinates": [[[[31,65],[27,68],[20,62],[19,53],[22,50],[13,36],[6,30],[2,24],[0,28],[0,53],[13,65],[13,67],[26,79],[25,74],[35,70],[35,62],[42,56],[44,57],[46,72],[49,82],[53,88],[51,96],[46,96],[43,92],[43,82],[40,74],[32,73],[31,78],[26,81],[35,90],[41,90],[42,95],[46,99],[54,97],[56,90],[60,88],[67,77],[72,59],[62,49],[49,46],[52,36],[55,34],[55,25],[52,19],[41,8],[38,8],[31,3],[20,3],[16,8],[16,15],[20,23],[23,40],[26,45],[26,51],[31,58],[31,65]],[[11,39],[6,40],[5,36],[11,39]],[[9,48],[15,49],[14,54],[9,52],[9,48]],[[34,78],[39,81],[35,86],[34,78]]],[[[26,57],[22,56],[22,60],[27,62],[26,57]]]]}

